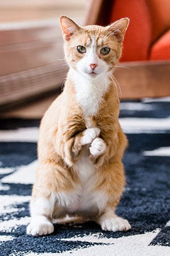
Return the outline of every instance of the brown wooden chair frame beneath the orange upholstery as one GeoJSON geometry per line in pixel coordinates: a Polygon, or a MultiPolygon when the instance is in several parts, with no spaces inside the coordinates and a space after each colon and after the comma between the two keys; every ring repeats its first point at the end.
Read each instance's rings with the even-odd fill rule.
{"type": "Polygon", "coordinates": [[[170,60],[121,63],[114,76],[120,85],[122,99],[170,95],[170,60]]]}

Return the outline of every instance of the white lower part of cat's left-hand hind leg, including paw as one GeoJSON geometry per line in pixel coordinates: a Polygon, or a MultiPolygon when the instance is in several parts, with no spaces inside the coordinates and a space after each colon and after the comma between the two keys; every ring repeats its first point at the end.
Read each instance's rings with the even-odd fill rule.
{"type": "Polygon", "coordinates": [[[45,236],[54,232],[54,226],[50,221],[53,211],[53,202],[43,197],[32,198],[30,204],[31,222],[27,226],[27,234],[32,236],[45,236]]]}

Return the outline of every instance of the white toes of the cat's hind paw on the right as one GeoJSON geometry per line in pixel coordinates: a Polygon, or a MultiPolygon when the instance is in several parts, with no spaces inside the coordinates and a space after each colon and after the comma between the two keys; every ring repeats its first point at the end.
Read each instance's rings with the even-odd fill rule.
{"type": "Polygon", "coordinates": [[[127,231],[131,226],[127,220],[121,217],[106,218],[100,223],[101,229],[108,231],[127,231]]]}

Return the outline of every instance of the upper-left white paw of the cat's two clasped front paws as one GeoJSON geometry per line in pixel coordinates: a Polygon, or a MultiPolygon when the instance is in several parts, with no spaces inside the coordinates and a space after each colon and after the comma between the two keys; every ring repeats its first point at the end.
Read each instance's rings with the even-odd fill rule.
{"type": "Polygon", "coordinates": [[[98,127],[88,128],[84,131],[82,145],[91,144],[96,137],[99,137],[100,129],[98,127]]]}

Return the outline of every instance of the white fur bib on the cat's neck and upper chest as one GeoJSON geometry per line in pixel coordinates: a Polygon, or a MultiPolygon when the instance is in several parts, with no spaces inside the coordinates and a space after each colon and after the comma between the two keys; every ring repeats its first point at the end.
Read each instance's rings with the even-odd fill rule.
{"type": "Polygon", "coordinates": [[[110,85],[109,75],[88,78],[74,69],[70,69],[67,78],[73,81],[76,101],[84,115],[86,117],[96,115],[110,85]]]}

